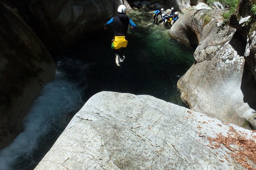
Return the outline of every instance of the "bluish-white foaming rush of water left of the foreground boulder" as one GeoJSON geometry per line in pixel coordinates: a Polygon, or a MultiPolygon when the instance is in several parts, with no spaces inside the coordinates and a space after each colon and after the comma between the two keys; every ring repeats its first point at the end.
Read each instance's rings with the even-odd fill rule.
{"type": "Polygon", "coordinates": [[[56,72],[55,80],[42,89],[41,95],[24,118],[24,131],[0,151],[0,170],[13,170],[13,164],[21,157],[28,157],[26,159],[29,159],[29,163],[26,164],[33,164],[33,154],[40,140],[50,130],[59,128],[68,114],[77,111],[82,104],[80,91],[75,83],[66,80],[62,72],[56,72]]]}

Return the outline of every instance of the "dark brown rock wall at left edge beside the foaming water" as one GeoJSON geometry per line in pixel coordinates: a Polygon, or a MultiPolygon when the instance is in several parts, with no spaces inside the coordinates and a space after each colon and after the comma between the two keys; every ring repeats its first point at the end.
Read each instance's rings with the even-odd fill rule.
{"type": "Polygon", "coordinates": [[[55,63],[15,8],[0,2],[0,149],[23,128],[42,86],[52,80],[55,63]]]}

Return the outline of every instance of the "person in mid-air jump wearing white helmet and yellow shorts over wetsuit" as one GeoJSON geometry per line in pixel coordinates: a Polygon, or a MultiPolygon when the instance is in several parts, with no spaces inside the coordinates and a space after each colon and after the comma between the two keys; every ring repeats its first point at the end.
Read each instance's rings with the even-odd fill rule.
{"type": "Polygon", "coordinates": [[[132,28],[137,28],[137,25],[132,22],[132,19],[126,15],[126,6],[120,5],[117,9],[118,16],[114,16],[108,22],[104,24],[104,29],[108,29],[109,24],[114,24],[114,39],[112,40],[112,46],[116,51],[116,65],[120,66],[120,62],[123,62],[124,50],[127,46],[128,41],[126,40],[126,34],[128,31],[128,26],[132,28]]]}

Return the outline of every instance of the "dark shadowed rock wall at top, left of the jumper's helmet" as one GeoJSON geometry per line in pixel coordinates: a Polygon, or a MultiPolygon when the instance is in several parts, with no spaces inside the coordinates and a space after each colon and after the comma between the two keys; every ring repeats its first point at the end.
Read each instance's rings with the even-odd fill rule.
{"type": "MultiPolygon", "coordinates": [[[[13,3],[51,52],[104,29],[126,0],[14,0],[13,3]]],[[[127,6],[129,9],[129,6],[127,6]]]]}

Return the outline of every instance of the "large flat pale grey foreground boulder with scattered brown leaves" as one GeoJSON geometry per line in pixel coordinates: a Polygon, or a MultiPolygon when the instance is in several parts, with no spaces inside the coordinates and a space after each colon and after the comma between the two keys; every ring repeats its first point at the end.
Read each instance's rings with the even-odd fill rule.
{"type": "Polygon", "coordinates": [[[256,133],[148,95],[100,92],[35,170],[256,167],[256,133]]]}

